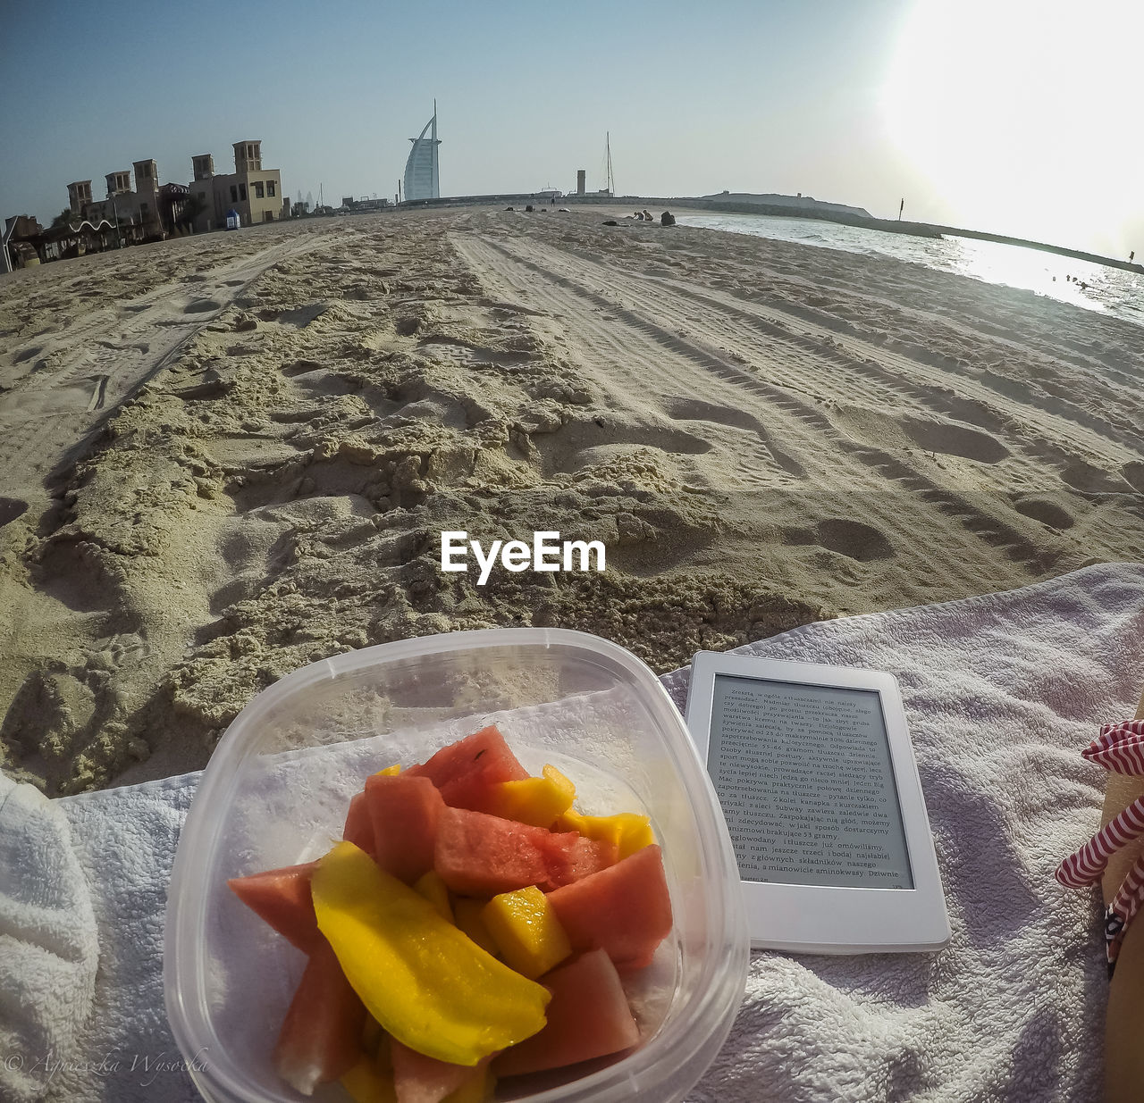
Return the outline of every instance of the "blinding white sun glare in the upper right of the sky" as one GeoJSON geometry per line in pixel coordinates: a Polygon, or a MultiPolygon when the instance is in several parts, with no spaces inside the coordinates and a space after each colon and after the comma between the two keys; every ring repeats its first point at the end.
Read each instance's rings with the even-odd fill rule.
{"type": "Polygon", "coordinates": [[[963,225],[1120,248],[1142,41],[1141,0],[921,0],[883,90],[890,134],[963,225]]]}

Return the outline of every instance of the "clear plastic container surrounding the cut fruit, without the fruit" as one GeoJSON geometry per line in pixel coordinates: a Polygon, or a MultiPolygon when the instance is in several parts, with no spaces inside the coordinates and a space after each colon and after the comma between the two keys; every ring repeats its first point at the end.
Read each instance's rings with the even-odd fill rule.
{"type": "MultiPolygon", "coordinates": [[[[675,914],[629,989],[642,1045],[573,1080],[508,1078],[498,1100],[672,1103],[702,1076],[742,999],[749,949],[726,825],[683,719],[614,644],[503,629],[315,663],[260,694],[220,741],[180,838],[164,960],[170,1028],[207,1100],[303,1098],[275,1074],[271,1053],[304,958],[227,879],[320,856],[370,773],[493,722],[526,769],[553,762],[567,774],[585,812],[651,816],[675,914]]],[[[332,1085],[313,1098],[349,1096],[332,1085]]]]}

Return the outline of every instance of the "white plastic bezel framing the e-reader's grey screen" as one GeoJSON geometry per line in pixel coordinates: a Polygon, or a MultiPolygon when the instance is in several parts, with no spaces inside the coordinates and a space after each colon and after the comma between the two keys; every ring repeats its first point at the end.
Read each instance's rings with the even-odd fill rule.
{"type": "MultiPolygon", "coordinates": [[[[866,888],[744,880],[750,944],[792,953],[940,950],[950,941],[945,893],[934,852],[901,694],[892,674],[699,652],[691,664],[688,728],[709,768],[715,679],[721,674],[801,686],[874,690],[882,706],[913,888],[866,888]]],[[[718,794],[714,776],[712,784],[718,794]]],[[[738,840],[733,840],[738,841],[738,840]]]]}

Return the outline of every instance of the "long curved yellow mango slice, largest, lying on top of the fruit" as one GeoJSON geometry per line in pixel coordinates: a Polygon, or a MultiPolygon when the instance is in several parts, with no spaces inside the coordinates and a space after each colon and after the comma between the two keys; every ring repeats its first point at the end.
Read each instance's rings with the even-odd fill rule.
{"type": "Polygon", "coordinates": [[[352,842],[318,860],[311,890],[345,978],[411,1049],[475,1065],[545,1025],[547,989],[482,950],[352,842]]]}

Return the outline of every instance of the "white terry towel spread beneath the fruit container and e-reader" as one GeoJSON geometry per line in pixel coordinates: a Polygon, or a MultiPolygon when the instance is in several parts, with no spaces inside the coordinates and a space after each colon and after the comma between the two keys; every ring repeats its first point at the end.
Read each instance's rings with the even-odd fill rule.
{"type": "MultiPolygon", "coordinates": [[[[1144,687],[1144,565],[811,624],[742,650],[897,676],[953,938],[936,957],[754,954],[742,1010],[691,1103],[1096,1103],[1099,909],[1052,870],[1099,820],[1105,773],[1080,750],[1099,724],[1131,716],[1144,687]]],[[[665,684],[682,705],[686,671],[665,684]]],[[[167,872],[196,783],[55,802],[88,876],[102,960],[74,1066],[47,1098],[198,1098],[161,992],[167,872]]]]}

